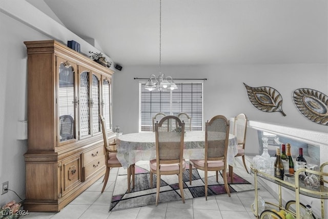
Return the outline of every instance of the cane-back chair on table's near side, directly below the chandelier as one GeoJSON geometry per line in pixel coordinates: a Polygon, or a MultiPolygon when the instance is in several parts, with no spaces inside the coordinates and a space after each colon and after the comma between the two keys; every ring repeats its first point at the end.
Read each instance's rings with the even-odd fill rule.
{"type": "Polygon", "coordinates": [[[153,174],[156,174],[156,206],[161,175],[178,175],[182,203],[185,203],[182,182],[186,169],[186,161],[183,160],[184,133],[185,123],[174,115],[165,116],[155,124],[156,159],[150,161],[150,188],[153,188],[153,174]]]}

